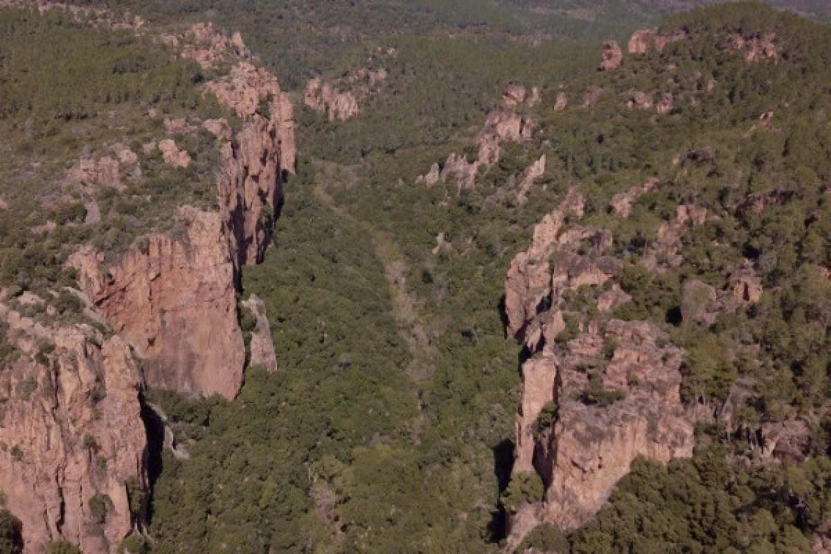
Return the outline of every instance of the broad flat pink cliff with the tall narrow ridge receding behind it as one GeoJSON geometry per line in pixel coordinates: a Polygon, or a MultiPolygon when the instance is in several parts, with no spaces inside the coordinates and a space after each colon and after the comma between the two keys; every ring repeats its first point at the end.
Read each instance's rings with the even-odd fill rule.
{"type": "Polygon", "coordinates": [[[208,88],[245,120],[221,146],[219,213],[183,207],[184,237],[152,235],[108,268],[89,250],[71,263],[81,287],[140,355],[147,385],[233,399],[246,363],[238,269],[261,262],[271,241],[283,174],[295,169],[294,120],[274,77],[248,61],[208,88]],[[268,120],[258,113],[263,101],[268,120]]]}

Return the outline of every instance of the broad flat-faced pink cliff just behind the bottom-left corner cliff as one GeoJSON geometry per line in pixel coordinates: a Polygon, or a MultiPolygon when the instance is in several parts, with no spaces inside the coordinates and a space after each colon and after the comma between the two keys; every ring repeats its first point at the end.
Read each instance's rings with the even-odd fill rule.
{"type": "Polygon", "coordinates": [[[219,213],[180,208],[184,237],[151,235],[111,267],[91,248],[71,257],[81,287],[143,360],[145,382],[233,399],[245,351],[236,260],[219,213]]]}

